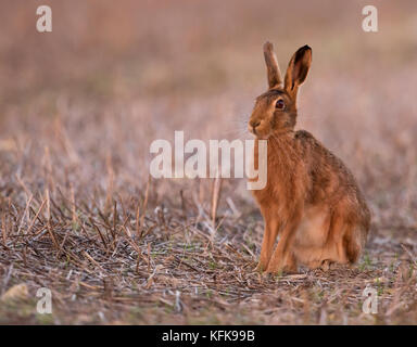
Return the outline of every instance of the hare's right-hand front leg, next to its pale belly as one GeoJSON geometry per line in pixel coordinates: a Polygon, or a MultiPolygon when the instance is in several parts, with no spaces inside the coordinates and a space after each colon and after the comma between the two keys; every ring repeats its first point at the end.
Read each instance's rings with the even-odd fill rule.
{"type": "Polygon", "coordinates": [[[298,270],[296,259],[292,252],[292,244],[301,222],[301,216],[302,214],[298,211],[293,218],[288,220],[285,224],[277,248],[266,269],[267,273],[277,273],[280,271],[295,272],[298,270]]]}

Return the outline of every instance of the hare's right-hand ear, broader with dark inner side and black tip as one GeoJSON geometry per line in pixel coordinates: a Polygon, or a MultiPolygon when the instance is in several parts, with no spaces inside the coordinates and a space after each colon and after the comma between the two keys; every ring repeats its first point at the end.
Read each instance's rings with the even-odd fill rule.
{"type": "Polygon", "coordinates": [[[285,89],[288,92],[296,90],[296,88],[304,82],[311,65],[312,49],[306,44],[292,55],[290,64],[288,65],[285,80],[285,89]]]}

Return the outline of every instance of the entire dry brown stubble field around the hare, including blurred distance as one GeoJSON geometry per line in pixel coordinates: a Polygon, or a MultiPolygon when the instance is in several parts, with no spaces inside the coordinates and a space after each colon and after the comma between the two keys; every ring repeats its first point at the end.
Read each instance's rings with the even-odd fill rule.
{"type": "Polygon", "coordinates": [[[1,1],[0,323],[416,324],[417,3],[1,1]],[[53,31],[36,30],[50,4],[53,31]],[[266,88],[308,43],[299,128],[340,156],[372,210],[357,267],[265,279],[243,180],[150,180],[149,145],[247,138],[266,88]],[[378,314],[362,312],[378,290],[378,314]],[[53,314],[36,313],[39,287],[53,314]]]}

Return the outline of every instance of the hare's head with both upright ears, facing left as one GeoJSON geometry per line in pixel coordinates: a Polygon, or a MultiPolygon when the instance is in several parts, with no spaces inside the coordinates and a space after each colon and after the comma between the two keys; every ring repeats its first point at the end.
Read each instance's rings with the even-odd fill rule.
{"type": "Polygon", "coordinates": [[[270,42],[264,44],[264,55],[269,88],[256,98],[248,125],[249,131],[260,139],[293,130],[296,120],[296,93],[307,76],[312,49],[304,46],[292,55],[283,80],[270,42]]]}

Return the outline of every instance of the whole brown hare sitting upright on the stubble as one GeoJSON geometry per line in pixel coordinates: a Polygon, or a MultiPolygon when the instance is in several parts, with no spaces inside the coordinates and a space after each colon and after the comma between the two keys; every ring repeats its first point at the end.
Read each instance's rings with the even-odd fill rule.
{"type": "Polygon", "coordinates": [[[256,98],[249,130],[267,140],[267,182],[253,191],[265,221],[257,270],[296,272],[299,265],[327,270],[354,264],[365,245],[370,214],[344,164],[309,132],[294,131],[296,94],[312,49],[300,48],[282,80],[273,44],[264,44],[268,90],[256,98]],[[278,244],[274,245],[279,235],[278,244]]]}

